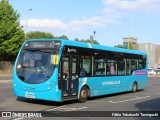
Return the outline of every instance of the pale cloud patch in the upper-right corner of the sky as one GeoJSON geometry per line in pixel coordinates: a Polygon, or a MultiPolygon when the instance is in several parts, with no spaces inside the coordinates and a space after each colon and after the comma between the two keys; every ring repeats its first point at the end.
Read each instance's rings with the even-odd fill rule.
{"type": "Polygon", "coordinates": [[[142,13],[159,13],[160,0],[103,0],[105,9],[110,11],[133,11],[142,13]]]}

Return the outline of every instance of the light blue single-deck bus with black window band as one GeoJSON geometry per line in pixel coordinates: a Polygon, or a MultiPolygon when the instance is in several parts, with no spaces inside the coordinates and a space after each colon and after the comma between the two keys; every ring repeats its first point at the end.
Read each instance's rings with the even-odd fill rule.
{"type": "Polygon", "coordinates": [[[147,54],[63,39],[26,40],[13,70],[17,97],[62,102],[125,91],[148,83],[147,54]]]}

